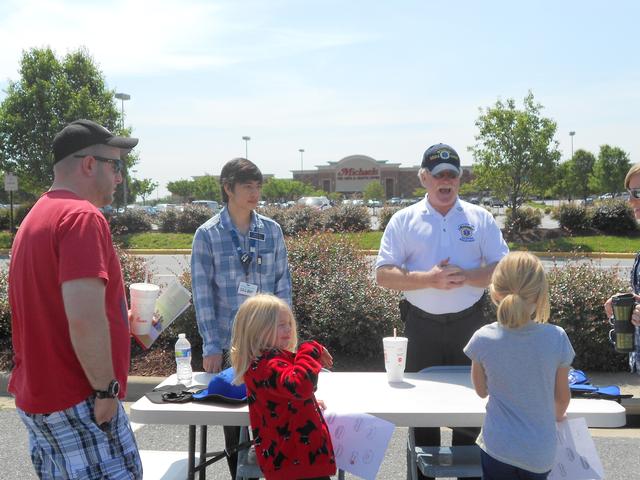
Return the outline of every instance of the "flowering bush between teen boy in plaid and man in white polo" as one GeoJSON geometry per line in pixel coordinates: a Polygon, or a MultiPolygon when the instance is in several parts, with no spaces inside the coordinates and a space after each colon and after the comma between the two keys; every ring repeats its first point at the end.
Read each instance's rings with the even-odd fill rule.
{"type": "Polygon", "coordinates": [[[300,338],[381,362],[382,338],[394,327],[402,330],[399,293],[378,287],[370,260],[345,239],[308,235],[288,239],[287,246],[300,338]]]}

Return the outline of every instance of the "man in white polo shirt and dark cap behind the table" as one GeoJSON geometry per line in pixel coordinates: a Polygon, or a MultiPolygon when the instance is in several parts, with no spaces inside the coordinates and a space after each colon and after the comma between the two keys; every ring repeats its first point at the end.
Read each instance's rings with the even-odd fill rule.
{"type": "MultiPolygon", "coordinates": [[[[379,285],[402,290],[409,339],[407,371],[468,365],[462,349],[488,323],[484,291],[509,251],[491,213],[458,198],[460,157],[448,145],[424,152],[418,176],[424,200],[397,212],[376,260],[379,285]]],[[[479,429],[454,429],[454,445],[472,445],[479,429]]],[[[440,445],[440,429],[415,429],[416,445],[440,445]]],[[[424,477],[422,477],[424,478],[424,477]]]]}

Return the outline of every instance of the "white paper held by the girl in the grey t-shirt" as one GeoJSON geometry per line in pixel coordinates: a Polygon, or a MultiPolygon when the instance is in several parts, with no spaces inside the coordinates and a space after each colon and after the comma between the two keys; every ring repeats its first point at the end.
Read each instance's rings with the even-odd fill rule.
{"type": "Polygon", "coordinates": [[[557,424],[556,460],[549,480],[600,480],[604,468],[584,418],[557,424]]]}

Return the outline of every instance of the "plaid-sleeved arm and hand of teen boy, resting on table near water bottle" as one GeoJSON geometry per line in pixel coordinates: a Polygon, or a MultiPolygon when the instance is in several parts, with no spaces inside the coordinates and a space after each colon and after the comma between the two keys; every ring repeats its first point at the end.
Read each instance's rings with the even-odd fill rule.
{"type": "Polygon", "coordinates": [[[215,274],[213,253],[206,233],[197,230],[193,236],[191,254],[191,289],[198,331],[202,337],[202,368],[207,373],[218,373],[222,369],[222,348],[216,341],[217,323],[213,309],[215,274]]]}

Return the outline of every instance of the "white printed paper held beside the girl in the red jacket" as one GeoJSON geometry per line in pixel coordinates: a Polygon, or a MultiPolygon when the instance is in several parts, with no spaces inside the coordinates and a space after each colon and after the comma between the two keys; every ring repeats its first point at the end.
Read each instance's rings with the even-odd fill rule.
{"type": "Polygon", "coordinates": [[[324,411],[338,468],[373,480],[395,425],[367,413],[324,411]]]}

